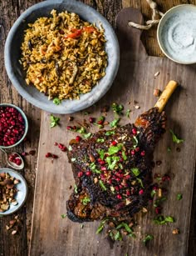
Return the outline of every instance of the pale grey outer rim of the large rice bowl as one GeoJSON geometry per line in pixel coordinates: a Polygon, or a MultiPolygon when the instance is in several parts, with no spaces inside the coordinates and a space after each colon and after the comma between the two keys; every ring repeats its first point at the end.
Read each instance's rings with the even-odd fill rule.
{"type": "MultiPolygon", "coordinates": [[[[69,10],[67,9],[69,12],[69,10]]],[[[107,47],[107,43],[106,43],[107,47]]],[[[108,53],[109,55],[109,53],[108,53]]],[[[33,5],[31,8],[28,8],[22,15],[17,18],[17,21],[13,24],[10,32],[8,33],[6,44],[5,44],[5,51],[4,51],[4,58],[5,58],[5,67],[7,70],[7,75],[10,78],[13,86],[17,88],[17,92],[22,95],[23,98],[27,99],[29,103],[32,103],[33,105],[37,106],[37,108],[42,108],[43,110],[46,110],[47,112],[50,113],[75,113],[78,112],[82,109],[88,108],[94,103],[96,103],[100,98],[102,98],[105,93],[110,89],[112,83],[114,82],[115,76],[117,74],[118,68],[119,68],[119,63],[120,63],[120,48],[119,48],[119,43],[118,39],[116,38],[115,32],[113,28],[111,28],[110,23],[98,12],[96,12],[95,9],[91,8],[90,6],[77,2],[76,0],[56,0],[56,1],[51,1],[47,0],[42,3],[37,3],[33,5]],[[110,37],[112,38],[112,60],[109,59],[109,65],[110,65],[110,73],[107,73],[107,68],[106,68],[106,74],[104,78],[100,79],[100,82],[98,86],[95,86],[92,88],[90,93],[82,94],[80,100],[64,100],[61,103],[61,107],[63,109],[58,108],[60,105],[56,106],[48,106],[47,103],[42,103],[42,101],[38,101],[36,98],[33,98],[32,95],[27,93],[26,90],[22,88],[20,85],[18,78],[14,75],[14,70],[12,68],[12,56],[10,53],[11,49],[11,43],[12,39],[17,33],[17,28],[20,25],[20,23],[24,22],[25,19],[30,15],[32,12],[36,12],[38,8],[43,8],[48,5],[52,4],[71,4],[73,5],[74,8],[80,7],[82,10],[85,10],[86,13],[93,13],[93,15],[97,18],[99,18],[100,23],[103,25],[103,28],[110,33],[110,37]]],[[[111,57],[110,57],[111,58],[111,57]]],[[[45,96],[46,97],[46,96],[45,96]]],[[[47,98],[47,97],[46,97],[47,98]]]]}

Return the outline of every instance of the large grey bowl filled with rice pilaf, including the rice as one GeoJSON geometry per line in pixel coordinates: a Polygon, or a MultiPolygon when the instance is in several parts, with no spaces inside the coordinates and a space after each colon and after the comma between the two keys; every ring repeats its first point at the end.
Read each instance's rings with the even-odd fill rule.
{"type": "Polygon", "coordinates": [[[17,92],[51,113],[75,113],[109,90],[119,68],[110,23],[77,1],[37,3],[13,24],[5,66],[17,92]]]}

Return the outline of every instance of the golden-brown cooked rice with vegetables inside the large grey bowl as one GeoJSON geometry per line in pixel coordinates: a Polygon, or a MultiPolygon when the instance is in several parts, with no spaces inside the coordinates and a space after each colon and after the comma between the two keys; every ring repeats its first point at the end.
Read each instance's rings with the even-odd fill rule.
{"type": "Polygon", "coordinates": [[[20,60],[26,82],[48,99],[79,98],[105,76],[104,30],[76,13],[52,10],[51,15],[28,24],[20,60]]]}

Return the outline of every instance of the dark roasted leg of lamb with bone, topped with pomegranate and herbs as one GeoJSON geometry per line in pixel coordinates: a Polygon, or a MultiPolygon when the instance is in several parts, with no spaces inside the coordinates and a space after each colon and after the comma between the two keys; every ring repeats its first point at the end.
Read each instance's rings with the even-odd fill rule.
{"type": "Polygon", "coordinates": [[[68,158],[76,189],[66,203],[68,218],[80,223],[128,218],[147,206],[154,147],[165,132],[162,110],[176,85],[170,82],[155,107],[135,123],[71,143],[68,158]]]}

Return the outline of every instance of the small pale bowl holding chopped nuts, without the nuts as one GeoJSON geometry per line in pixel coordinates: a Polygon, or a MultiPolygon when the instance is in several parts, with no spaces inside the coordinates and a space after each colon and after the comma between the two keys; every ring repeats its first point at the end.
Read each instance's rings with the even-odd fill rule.
{"type": "Polygon", "coordinates": [[[17,183],[16,185],[16,188],[18,190],[15,196],[15,198],[17,199],[17,205],[11,204],[10,208],[7,211],[0,213],[0,216],[3,216],[15,213],[19,208],[22,208],[22,205],[27,199],[27,183],[20,173],[17,173],[10,168],[0,168],[0,173],[9,173],[12,177],[20,180],[20,183],[17,183]]]}

